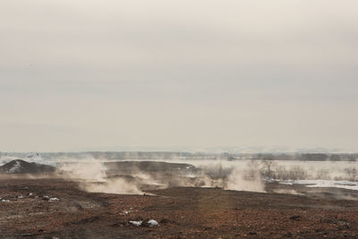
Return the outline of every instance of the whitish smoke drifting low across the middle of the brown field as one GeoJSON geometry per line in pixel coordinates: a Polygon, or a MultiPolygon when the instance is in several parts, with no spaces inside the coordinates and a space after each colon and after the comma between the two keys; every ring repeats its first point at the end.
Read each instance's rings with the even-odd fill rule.
{"type": "Polygon", "coordinates": [[[264,192],[259,172],[225,160],[196,160],[195,165],[157,161],[107,162],[96,159],[68,162],[61,174],[80,182],[88,192],[143,193],[143,189],[176,186],[220,187],[226,190],[264,192]]]}

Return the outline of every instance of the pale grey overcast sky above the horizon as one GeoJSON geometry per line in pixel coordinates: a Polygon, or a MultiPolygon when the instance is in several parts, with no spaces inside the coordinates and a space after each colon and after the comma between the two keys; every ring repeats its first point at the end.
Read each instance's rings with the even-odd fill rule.
{"type": "Polygon", "coordinates": [[[356,0],[1,0],[0,150],[358,151],[356,0]]]}

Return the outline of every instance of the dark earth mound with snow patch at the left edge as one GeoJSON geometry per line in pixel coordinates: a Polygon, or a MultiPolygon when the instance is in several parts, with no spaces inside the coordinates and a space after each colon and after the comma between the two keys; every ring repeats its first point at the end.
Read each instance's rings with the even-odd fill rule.
{"type": "Polygon", "coordinates": [[[53,172],[55,172],[54,166],[29,163],[21,159],[15,159],[0,166],[0,173],[3,174],[48,174],[53,172]]]}

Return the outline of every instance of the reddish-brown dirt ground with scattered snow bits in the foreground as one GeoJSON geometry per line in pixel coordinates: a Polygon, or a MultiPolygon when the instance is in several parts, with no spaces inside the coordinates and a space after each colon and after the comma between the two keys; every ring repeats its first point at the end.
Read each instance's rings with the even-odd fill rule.
{"type": "Polygon", "coordinates": [[[280,184],[266,190],[179,187],[120,195],[83,192],[58,178],[3,177],[0,237],[358,238],[356,192],[280,184]],[[148,226],[149,219],[159,226],[148,226]]]}

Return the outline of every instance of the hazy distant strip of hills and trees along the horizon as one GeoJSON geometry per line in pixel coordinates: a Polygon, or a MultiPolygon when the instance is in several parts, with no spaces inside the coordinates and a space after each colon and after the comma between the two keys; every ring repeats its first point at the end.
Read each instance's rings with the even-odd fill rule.
{"type": "Polygon", "coordinates": [[[43,152],[43,153],[16,153],[0,152],[0,159],[24,158],[30,161],[46,160],[86,160],[88,158],[108,161],[121,160],[185,160],[185,159],[226,159],[226,160],[301,160],[301,161],[358,161],[358,153],[322,153],[322,152],[295,152],[295,153],[210,153],[210,152],[169,152],[169,151],[121,151],[121,152],[43,152]]]}

